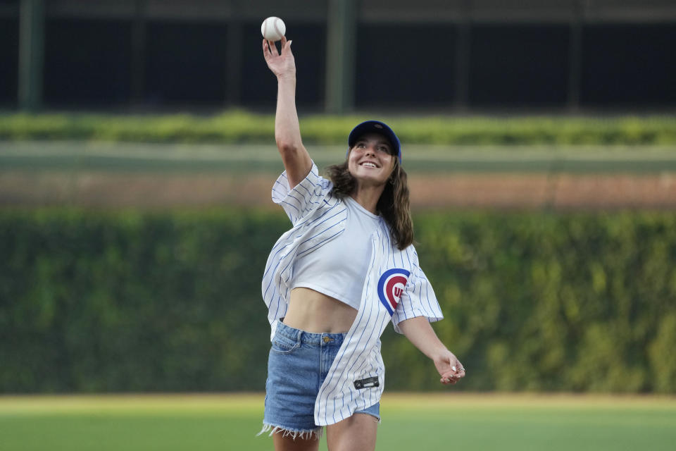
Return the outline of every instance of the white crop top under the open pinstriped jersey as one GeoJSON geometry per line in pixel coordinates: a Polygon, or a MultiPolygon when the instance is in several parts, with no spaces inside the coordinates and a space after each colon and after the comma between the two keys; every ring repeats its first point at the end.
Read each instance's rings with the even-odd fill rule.
{"type": "Polygon", "coordinates": [[[311,288],[359,309],[377,216],[349,196],[345,230],[312,252],[296,257],[291,288],[311,288]]]}

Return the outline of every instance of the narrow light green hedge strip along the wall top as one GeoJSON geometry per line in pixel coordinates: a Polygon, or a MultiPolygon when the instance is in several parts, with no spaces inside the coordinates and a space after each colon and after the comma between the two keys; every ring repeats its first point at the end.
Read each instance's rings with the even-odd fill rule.
{"type": "MultiPolygon", "coordinates": [[[[406,144],[676,144],[673,116],[379,117],[406,144]]],[[[303,140],[344,144],[364,116],[301,117],[303,140]]],[[[0,115],[0,140],[106,140],[273,144],[272,115],[228,111],[217,116],[112,116],[87,114],[0,115]]]]}

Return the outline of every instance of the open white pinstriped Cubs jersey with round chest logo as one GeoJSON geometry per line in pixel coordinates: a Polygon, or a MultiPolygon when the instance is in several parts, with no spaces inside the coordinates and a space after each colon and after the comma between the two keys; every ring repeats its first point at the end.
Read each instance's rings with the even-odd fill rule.
{"type": "MultiPolygon", "coordinates": [[[[344,230],[346,206],[331,194],[332,186],[330,180],[319,175],[314,163],[308,176],[293,190],[289,190],[286,172],[273,186],[273,202],[284,208],[293,228],[275,243],[263,274],[263,299],[272,328],[270,340],[275,336],[277,320],[287,311],[294,258],[312,252],[344,230]]],[[[413,245],[403,251],[397,249],[382,218],[380,227],[371,235],[371,245],[371,261],[356,319],[315,401],[318,426],[337,423],[380,401],[385,372],[380,335],[388,321],[401,333],[398,324],[405,319],[443,318],[413,245]],[[377,384],[360,383],[373,381],[371,378],[377,378],[377,384]]]]}

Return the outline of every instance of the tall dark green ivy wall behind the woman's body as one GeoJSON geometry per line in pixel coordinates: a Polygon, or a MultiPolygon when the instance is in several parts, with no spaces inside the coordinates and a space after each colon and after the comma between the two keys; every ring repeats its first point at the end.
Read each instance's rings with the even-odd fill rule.
{"type": "MultiPolygon", "coordinates": [[[[437,213],[459,390],[676,393],[676,213],[437,213]]],[[[0,211],[0,392],[263,390],[282,214],[0,211]]],[[[438,389],[391,328],[388,390],[438,389]]]]}

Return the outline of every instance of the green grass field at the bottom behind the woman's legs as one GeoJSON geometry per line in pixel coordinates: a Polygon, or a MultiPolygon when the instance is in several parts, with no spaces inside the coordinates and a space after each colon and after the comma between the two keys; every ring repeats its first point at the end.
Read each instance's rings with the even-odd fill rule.
{"type": "MultiPolygon", "coordinates": [[[[263,395],[0,397],[0,449],[272,450],[263,395]]],[[[673,397],[383,397],[378,450],[672,450],[673,397]]],[[[325,443],[320,447],[326,450],[325,443]]]]}

